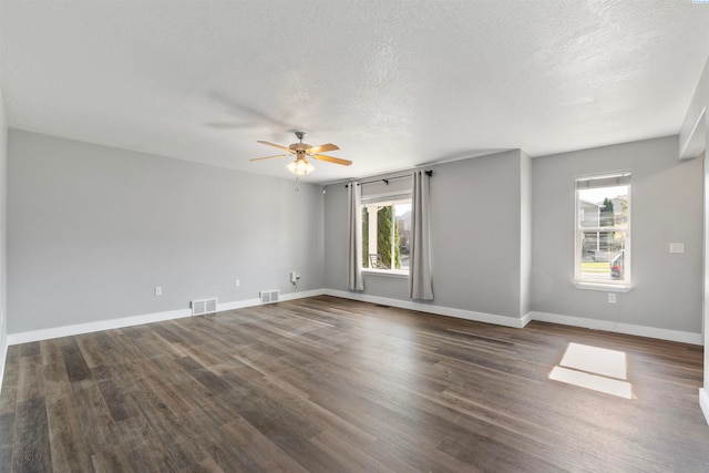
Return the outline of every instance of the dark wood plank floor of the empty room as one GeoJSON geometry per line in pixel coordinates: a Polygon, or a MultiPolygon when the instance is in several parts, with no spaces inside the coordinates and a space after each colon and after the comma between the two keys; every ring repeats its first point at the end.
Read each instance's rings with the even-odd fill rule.
{"type": "Polygon", "coordinates": [[[316,297],[10,347],[2,471],[707,472],[700,347],[316,297]],[[548,379],[627,353],[627,400],[548,379]]]}

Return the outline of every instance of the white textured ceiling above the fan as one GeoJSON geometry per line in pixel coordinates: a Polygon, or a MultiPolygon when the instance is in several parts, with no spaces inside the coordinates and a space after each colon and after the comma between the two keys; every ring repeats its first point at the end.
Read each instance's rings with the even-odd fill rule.
{"type": "Polygon", "coordinates": [[[11,127],[318,183],[676,134],[708,56],[691,0],[0,3],[11,127]]]}

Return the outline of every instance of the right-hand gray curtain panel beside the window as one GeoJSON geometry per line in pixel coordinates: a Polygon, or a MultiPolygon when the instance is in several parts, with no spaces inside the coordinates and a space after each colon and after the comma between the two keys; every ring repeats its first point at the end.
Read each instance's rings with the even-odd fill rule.
{"type": "Polygon", "coordinates": [[[425,171],[413,172],[409,256],[409,297],[411,299],[433,300],[429,249],[429,179],[425,171]]]}

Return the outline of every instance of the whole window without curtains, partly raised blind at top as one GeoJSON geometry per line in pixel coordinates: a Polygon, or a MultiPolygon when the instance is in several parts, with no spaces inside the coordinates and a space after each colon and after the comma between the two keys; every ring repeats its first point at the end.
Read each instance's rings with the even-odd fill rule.
{"type": "Polygon", "coordinates": [[[630,173],[576,178],[574,282],[630,285],[630,173]]]}

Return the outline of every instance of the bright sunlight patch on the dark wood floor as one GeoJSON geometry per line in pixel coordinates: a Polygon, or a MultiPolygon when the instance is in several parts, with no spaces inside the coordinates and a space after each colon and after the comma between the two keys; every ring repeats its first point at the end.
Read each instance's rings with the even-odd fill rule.
{"type": "Polygon", "coordinates": [[[559,366],[549,379],[619,398],[633,399],[627,379],[627,361],[623,351],[580,343],[569,343],[559,366]]]}

